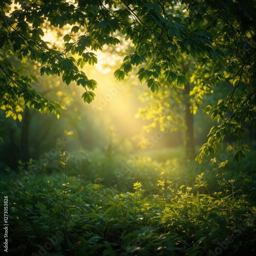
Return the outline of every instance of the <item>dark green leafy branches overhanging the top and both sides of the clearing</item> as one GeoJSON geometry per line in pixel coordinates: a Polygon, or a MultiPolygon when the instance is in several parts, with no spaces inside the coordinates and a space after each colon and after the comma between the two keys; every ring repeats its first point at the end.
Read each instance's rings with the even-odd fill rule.
{"type": "Polygon", "coordinates": [[[232,0],[11,0],[0,3],[0,99],[6,117],[22,119],[27,106],[40,112],[60,114],[61,105],[47,100],[31,88],[33,76],[17,70],[11,57],[21,62],[30,58],[40,63],[40,73],[62,76],[67,84],[75,81],[90,103],[97,82],[81,70],[97,62],[96,51],[130,40],[134,51],[126,55],[114,73],[118,80],[138,67],[137,77],[154,92],[160,79],[189,92],[190,111],[196,113],[203,98],[219,86],[232,84],[232,90],[206,112],[219,122],[209,132],[201,148],[199,162],[211,151],[226,146],[240,160],[248,146],[243,145],[243,123],[255,124],[255,1],[232,0]],[[43,39],[46,28],[66,28],[63,49],[43,39]],[[78,56],[75,58],[74,56],[78,56]],[[186,72],[180,65],[192,58],[186,72]],[[190,73],[189,73],[190,72],[190,73]],[[191,75],[188,75],[191,74],[191,75]],[[234,145],[225,144],[233,134],[234,145]]]}

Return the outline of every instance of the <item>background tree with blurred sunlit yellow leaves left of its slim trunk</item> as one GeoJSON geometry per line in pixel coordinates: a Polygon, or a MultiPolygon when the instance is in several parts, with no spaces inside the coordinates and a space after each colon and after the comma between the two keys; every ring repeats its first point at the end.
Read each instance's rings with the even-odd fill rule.
{"type": "MultiPolygon", "coordinates": [[[[193,67],[191,60],[181,58],[182,71],[189,78],[189,69],[193,67]]],[[[151,123],[144,127],[145,131],[159,126],[160,131],[168,130],[184,131],[184,142],[186,157],[194,159],[196,156],[196,144],[194,135],[194,114],[191,112],[190,91],[193,84],[185,83],[181,89],[176,83],[159,79],[161,87],[157,94],[150,92],[140,96],[141,100],[147,102],[145,108],[140,108],[138,115],[151,123]]]]}

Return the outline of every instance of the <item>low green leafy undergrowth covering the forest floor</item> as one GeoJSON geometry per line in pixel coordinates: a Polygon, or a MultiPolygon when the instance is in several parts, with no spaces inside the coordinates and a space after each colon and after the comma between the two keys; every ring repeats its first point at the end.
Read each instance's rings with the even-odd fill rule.
{"type": "Polygon", "coordinates": [[[19,175],[9,170],[2,179],[13,255],[206,255],[220,250],[253,255],[254,201],[237,190],[238,177],[226,180],[224,163],[218,162],[211,176],[200,165],[185,181],[175,177],[183,167],[193,173],[191,164],[174,159],[165,174],[153,167],[160,178],[152,183],[132,181],[126,174],[120,182],[131,183],[130,189],[119,191],[99,181],[106,169],[98,173],[99,182],[91,182],[89,175],[72,175],[72,158],[68,161],[65,153],[60,161],[58,174],[32,176],[30,161],[28,169],[20,163],[19,175]],[[20,179],[24,173],[28,178],[20,179]]]}

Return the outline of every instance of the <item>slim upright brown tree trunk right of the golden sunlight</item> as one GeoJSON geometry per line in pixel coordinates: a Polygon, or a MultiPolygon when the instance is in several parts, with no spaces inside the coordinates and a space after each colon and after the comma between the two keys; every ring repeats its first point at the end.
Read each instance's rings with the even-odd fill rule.
{"type": "Polygon", "coordinates": [[[194,115],[190,112],[190,102],[189,102],[189,92],[190,87],[189,84],[185,84],[184,86],[184,96],[185,96],[185,124],[187,126],[185,132],[185,150],[186,157],[189,159],[193,159],[196,156],[196,145],[195,145],[195,137],[194,137],[194,115]]]}

